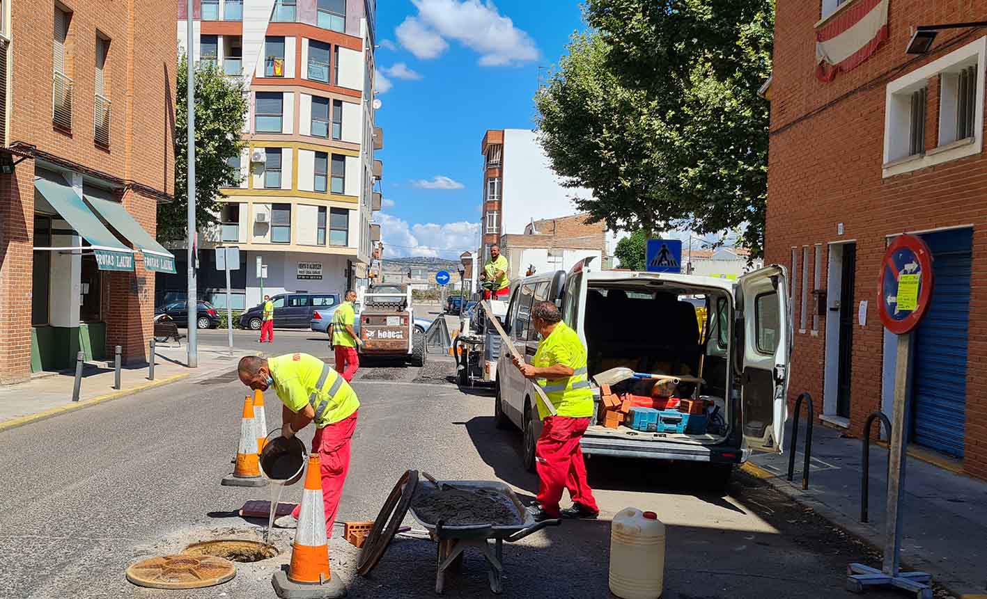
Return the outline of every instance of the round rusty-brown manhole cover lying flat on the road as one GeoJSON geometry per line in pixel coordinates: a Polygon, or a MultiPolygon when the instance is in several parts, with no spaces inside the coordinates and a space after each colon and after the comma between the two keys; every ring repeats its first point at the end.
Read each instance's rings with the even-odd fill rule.
{"type": "Polygon", "coordinates": [[[150,588],[201,588],[222,584],[236,573],[236,566],[222,558],[161,556],[126,568],[126,579],[150,588]]]}

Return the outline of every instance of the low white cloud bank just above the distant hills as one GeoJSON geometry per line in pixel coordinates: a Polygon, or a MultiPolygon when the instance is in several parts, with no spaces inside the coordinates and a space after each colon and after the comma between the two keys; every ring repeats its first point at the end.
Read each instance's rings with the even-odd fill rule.
{"type": "Polygon", "coordinates": [[[479,223],[425,223],[409,225],[407,221],[379,213],[384,256],[430,256],[455,259],[480,243],[479,223]]]}

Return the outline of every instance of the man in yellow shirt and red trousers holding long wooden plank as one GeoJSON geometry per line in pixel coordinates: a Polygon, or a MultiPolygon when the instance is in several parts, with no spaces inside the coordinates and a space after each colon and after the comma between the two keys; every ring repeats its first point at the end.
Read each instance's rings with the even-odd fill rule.
{"type": "Polygon", "coordinates": [[[525,378],[535,379],[555,407],[551,416],[538,400],[542,434],[535,444],[535,469],[541,481],[538,503],[528,507],[536,520],[595,518],[600,509],[586,481],[586,465],[579,440],[593,415],[593,391],[586,370],[586,348],[579,336],[562,322],[555,303],[539,301],[531,308],[531,326],[541,336],[531,364],[514,359],[525,378]],[[571,507],[559,508],[563,489],[569,489],[571,507]]]}

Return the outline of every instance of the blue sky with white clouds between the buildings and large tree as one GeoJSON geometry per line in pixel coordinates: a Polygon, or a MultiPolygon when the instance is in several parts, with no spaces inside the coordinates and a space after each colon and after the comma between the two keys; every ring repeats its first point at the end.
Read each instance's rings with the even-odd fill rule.
{"type": "Polygon", "coordinates": [[[534,127],[539,67],[583,29],[579,5],[379,0],[377,11],[385,257],[455,258],[479,243],[484,132],[534,127]]]}

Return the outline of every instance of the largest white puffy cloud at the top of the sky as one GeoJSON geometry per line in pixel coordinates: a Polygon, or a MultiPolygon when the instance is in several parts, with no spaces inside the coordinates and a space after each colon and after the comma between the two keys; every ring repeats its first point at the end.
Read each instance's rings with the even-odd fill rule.
{"type": "Polygon", "coordinates": [[[483,66],[503,66],[538,60],[531,35],[514,27],[492,0],[412,0],[416,17],[408,17],[395,33],[398,41],[420,59],[436,58],[454,39],[480,54],[483,66]]]}

